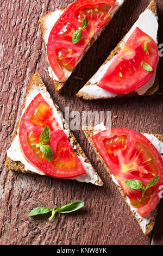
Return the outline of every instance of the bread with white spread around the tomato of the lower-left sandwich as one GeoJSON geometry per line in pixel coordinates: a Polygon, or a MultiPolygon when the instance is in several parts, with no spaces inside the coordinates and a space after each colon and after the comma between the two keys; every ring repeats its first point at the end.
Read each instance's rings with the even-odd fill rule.
{"type": "MultiPolygon", "coordinates": [[[[24,102],[23,111],[26,109],[29,105],[29,103],[34,99],[34,97],[41,93],[43,96],[43,99],[47,101],[49,106],[51,106],[53,114],[55,113],[54,117],[57,119],[60,127],[64,130],[68,141],[71,143],[73,150],[76,152],[77,156],[79,157],[80,161],[82,162],[84,169],[86,171],[86,174],[80,175],[76,178],[73,178],[78,181],[85,181],[85,182],[91,182],[92,184],[103,186],[103,181],[99,177],[99,175],[96,173],[95,169],[92,167],[90,161],[85,156],[82,148],[76,141],[76,138],[73,136],[72,132],[70,131],[68,125],[66,124],[65,120],[62,118],[61,113],[59,112],[59,108],[55,103],[53,102],[51,96],[47,92],[47,89],[45,87],[45,84],[43,84],[41,77],[38,73],[34,74],[32,79],[30,80],[26,100],[24,102]]],[[[23,113],[22,111],[22,113],[23,113]]],[[[36,171],[36,168],[33,167],[30,163],[26,161],[26,159],[23,157],[20,146],[18,143],[18,127],[15,132],[15,136],[12,140],[11,146],[7,151],[7,159],[5,161],[5,166],[8,169],[16,170],[17,172],[22,173],[37,173],[41,175],[45,175],[44,173],[40,172],[39,170],[36,171]]]]}

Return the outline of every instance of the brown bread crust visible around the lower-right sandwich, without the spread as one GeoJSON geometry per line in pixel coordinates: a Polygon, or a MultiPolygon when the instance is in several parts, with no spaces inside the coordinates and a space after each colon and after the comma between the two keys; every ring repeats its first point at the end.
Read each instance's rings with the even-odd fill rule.
{"type": "MultiPolygon", "coordinates": [[[[85,133],[85,136],[87,137],[87,139],[89,140],[89,142],[91,143],[93,149],[95,150],[96,154],[97,154],[97,157],[98,157],[98,161],[100,161],[104,168],[106,169],[106,171],[109,173],[109,176],[110,178],[112,179],[112,174],[111,174],[111,170],[109,169],[109,167],[105,164],[103,158],[101,157],[101,155],[99,154],[98,150],[95,148],[95,145],[92,141],[92,136],[93,136],[93,132],[95,131],[94,127],[87,127],[87,126],[84,126],[83,127],[83,131],[85,133]]],[[[163,142],[163,135],[159,135],[159,134],[153,134],[156,138],[159,139],[159,141],[163,142]]],[[[116,184],[115,184],[116,185],[116,184]]],[[[126,201],[127,203],[127,196],[126,194],[124,193],[124,191],[122,190],[122,188],[120,186],[117,186],[116,187],[118,188],[118,190],[120,191],[120,193],[122,194],[122,197],[124,198],[124,200],[126,201]]],[[[133,216],[135,217],[135,219],[137,220],[137,222],[139,223],[139,225],[141,224],[141,221],[139,220],[139,218],[136,217],[136,214],[133,213],[133,216]]],[[[156,220],[156,216],[158,215],[158,205],[155,207],[155,210],[154,210],[154,214],[153,214],[153,218],[151,219],[151,221],[146,225],[146,232],[144,233],[145,235],[149,235],[153,228],[154,228],[154,225],[155,225],[155,220],[156,220]]],[[[140,225],[140,228],[142,230],[142,227],[140,225]]],[[[143,231],[143,230],[142,230],[143,231]]]]}

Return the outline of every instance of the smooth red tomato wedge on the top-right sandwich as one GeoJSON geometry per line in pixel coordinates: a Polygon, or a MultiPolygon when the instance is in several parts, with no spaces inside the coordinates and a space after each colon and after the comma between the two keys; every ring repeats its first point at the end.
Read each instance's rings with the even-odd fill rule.
{"type": "Polygon", "coordinates": [[[121,51],[112,60],[98,86],[115,94],[127,94],[145,85],[152,77],[159,61],[159,50],[151,36],[136,28],[121,51]],[[147,42],[147,51],[145,51],[147,42]],[[153,71],[143,69],[141,63],[153,71]]]}

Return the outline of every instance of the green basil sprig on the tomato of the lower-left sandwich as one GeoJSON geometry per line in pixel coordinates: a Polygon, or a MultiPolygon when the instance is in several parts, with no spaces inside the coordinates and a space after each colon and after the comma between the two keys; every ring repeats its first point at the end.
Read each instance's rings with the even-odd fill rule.
{"type": "Polygon", "coordinates": [[[36,145],[36,148],[40,148],[42,154],[46,157],[46,159],[49,162],[51,162],[53,159],[53,150],[49,145],[47,145],[49,143],[50,138],[51,130],[49,126],[46,125],[43,131],[41,132],[39,144],[36,145]]]}

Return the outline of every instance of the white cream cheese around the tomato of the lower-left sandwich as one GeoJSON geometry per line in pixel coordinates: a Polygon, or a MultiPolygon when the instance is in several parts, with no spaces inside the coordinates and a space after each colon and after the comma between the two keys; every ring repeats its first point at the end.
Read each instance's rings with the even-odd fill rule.
{"type": "MultiPolygon", "coordinates": [[[[29,93],[27,94],[27,97],[26,97],[26,105],[23,108],[22,115],[23,115],[24,111],[26,110],[26,108],[29,106],[30,102],[39,93],[41,93],[43,99],[52,108],[52,112],[53,112],[53,115],[54,115],[55,119],[58,121],[59,126],[65,132],[65,134],[68,138],[70,131],[63,124],[64,120],[62,118],[62,114],[59,111],[57,111],[57,108],[54,106],[53,100],[52,100],[51,96],[49,95],[49,93],[47,92],[46,87],[33,86],[30,89],[30,91],[29,91],[29,93]]],[[[17,129],[17,135],[15,136],[14,140],[11,143],[10,148],[7,151],[7,156],[9,156],[10,159],[13,160],[13,161],[20,161],[21,163],[23,163],[24,164],[24,169],[26,171],[37,173],[37,174],[40,174],[40,175],[46,175],[45,173],[43,173],[39,169],[37,169],[35,166],[33,166],[31,163],[29,163],[26,160],[26,158],[23,156],[22,151],[20,149],[18,132],[19,132],[19,128],[17,129]]],[[[71,143],[73,149],[75,150],[77,147],[76,147],[76,145],[73,145],[73,138],[70,138],[70,143],[71,143]]],[[[95,172],[93,171],[93,167],[91,166],[90,163],[85,162],[86,159],[82,155],[79,155],[78,157],[79,157],[80,161],[83,164],[83,167],[85,169],[86,174],[80,175],[79,177],[76,177],[76,178],[73,178],[73,179],[81,181],[81,182],[91,182],[91,183],[95,184],[98,181],[99,178],[95,174],[95,172]]]]}

